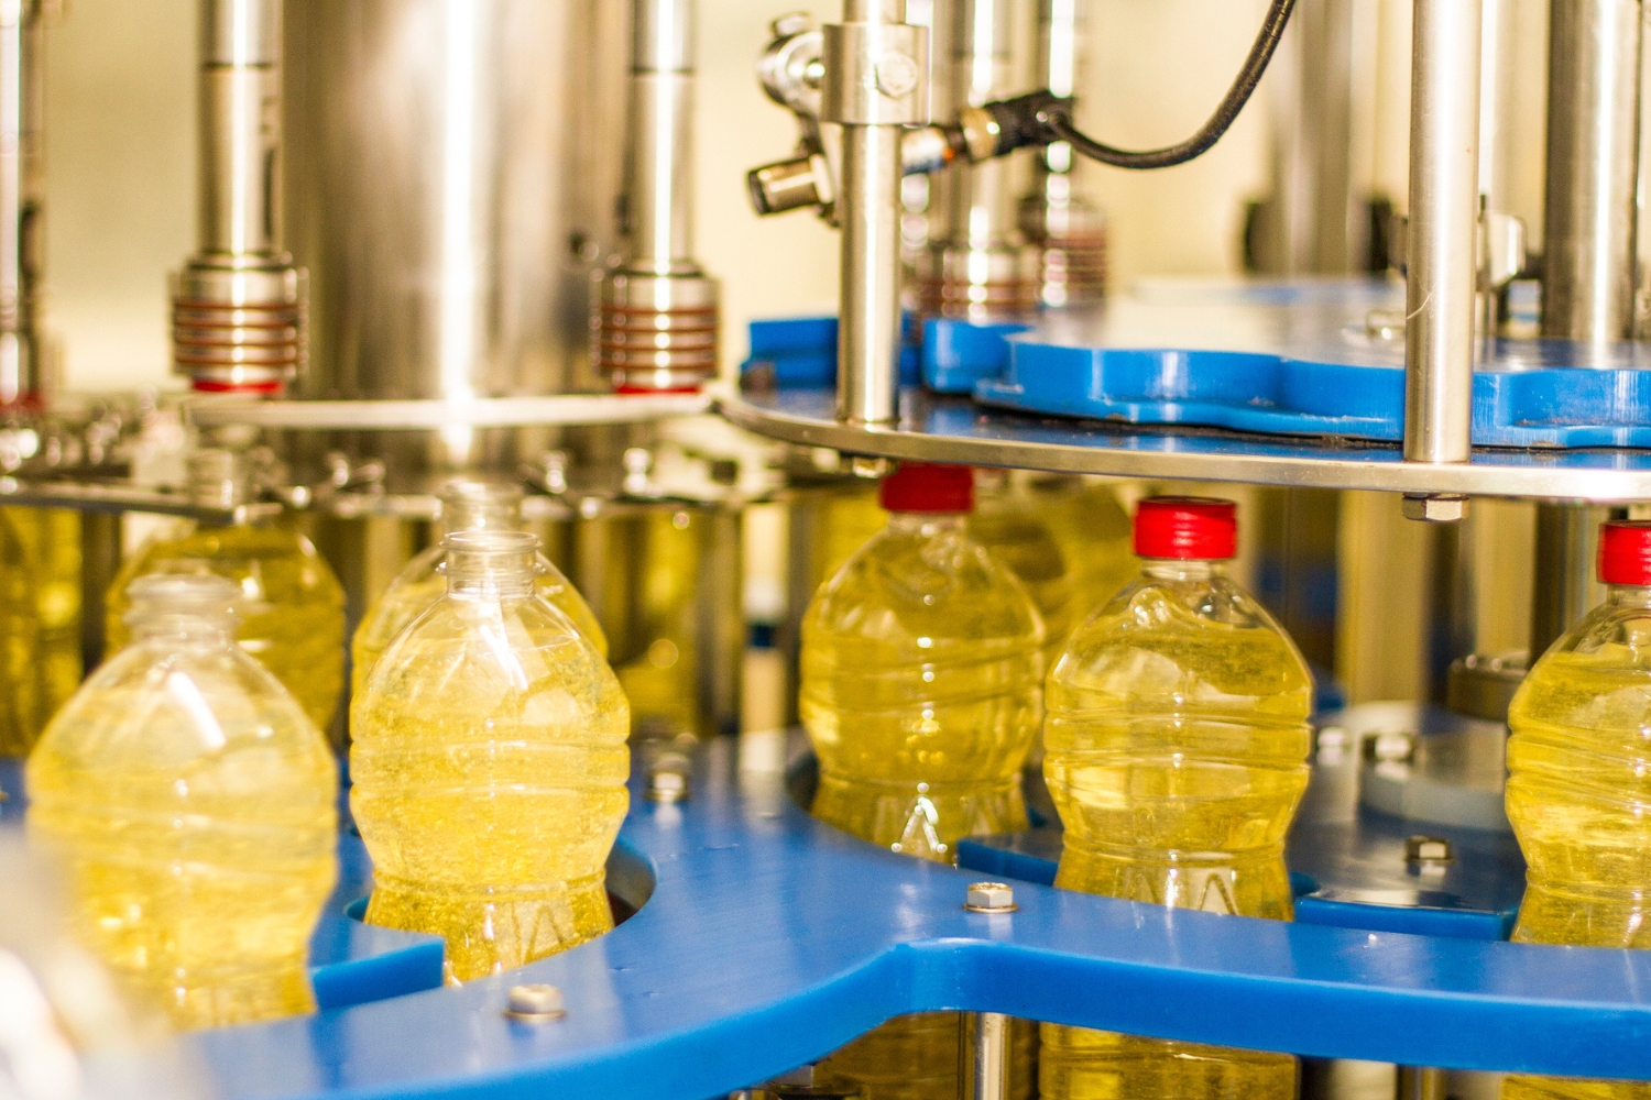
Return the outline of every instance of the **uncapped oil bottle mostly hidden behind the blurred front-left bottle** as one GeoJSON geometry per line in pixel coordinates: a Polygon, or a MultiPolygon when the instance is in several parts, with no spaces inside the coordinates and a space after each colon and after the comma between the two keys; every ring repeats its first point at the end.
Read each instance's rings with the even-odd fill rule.
{"type": "MultiPolygon", "coordinates": [[[[198,450],[190,455],[190,490],[218,506],[251,501],[241,455],[198,450]]],[[[106,599],[107,651],[127,640],[127,587],[155,572],[211,572],[241,592],[236,642],[276,675],[322,731],[332,726],[343,691],[343,589],[307,538],[279,523],[192,524],[158,538],[129,557],[106,599]]]]}

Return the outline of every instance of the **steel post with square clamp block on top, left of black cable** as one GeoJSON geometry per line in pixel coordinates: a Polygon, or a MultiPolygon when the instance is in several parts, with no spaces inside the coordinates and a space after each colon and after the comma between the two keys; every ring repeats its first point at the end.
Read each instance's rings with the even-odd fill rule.
{"type": "Polygon", "coordinates": [[[898,416],[900,147],[928,120],[928,30],[905,15],[905,0],[844,0],[824,28],[821,119],[842,125],[837,419],[850,424],[898,416]]]}

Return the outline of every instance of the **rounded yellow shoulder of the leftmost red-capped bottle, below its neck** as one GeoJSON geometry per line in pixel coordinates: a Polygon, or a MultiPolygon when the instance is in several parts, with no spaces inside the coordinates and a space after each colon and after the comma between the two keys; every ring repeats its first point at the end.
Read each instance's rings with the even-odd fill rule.
{"type": "Polygon", "coordinates": [[[821,585],[806,640],[855,640],[933,655],[948,645],[1043,640],[1027,589],[959,529],[885,529],[821,585]]]}

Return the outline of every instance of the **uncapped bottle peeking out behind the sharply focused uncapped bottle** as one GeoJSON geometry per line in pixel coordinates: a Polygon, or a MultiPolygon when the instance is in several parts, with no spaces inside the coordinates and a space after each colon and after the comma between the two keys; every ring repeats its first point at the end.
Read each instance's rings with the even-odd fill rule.
{"type": "MultiPolygon", "coordinates": [[[[522,490],[497,482],[447,483],[441,491],[441,534],[480,529],[520,531],[522,490]]],[[[447,582],[438,569],[444,556],[446,551],[438,539],[434,546],[409,561],[362,618],[362,625],[355,628],[355,638],[350,643],[352,698],[362,693],[367,673],[371,671],[385,648],[395,642],[395,637],[446,594],[447,582]]],[[[538,571],[535,579],[538,594],[571,618],[580,633],[589,638],[596,651],[606,658],[608,637],[580,590],[543,554],[538,556],[538,571]]]]}

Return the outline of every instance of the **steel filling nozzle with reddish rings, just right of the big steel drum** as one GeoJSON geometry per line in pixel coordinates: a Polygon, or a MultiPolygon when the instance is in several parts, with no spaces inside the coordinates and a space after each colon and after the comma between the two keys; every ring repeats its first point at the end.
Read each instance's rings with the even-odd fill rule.
{"type": "Polygon", "coordinates": [[[621,391],[717,373],[718,287],[693,259],[695,0],[631,5],[626,259],[603,280],[593,360],[621,391]]]}

